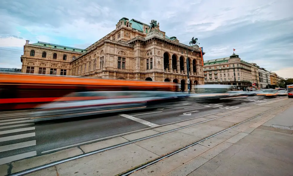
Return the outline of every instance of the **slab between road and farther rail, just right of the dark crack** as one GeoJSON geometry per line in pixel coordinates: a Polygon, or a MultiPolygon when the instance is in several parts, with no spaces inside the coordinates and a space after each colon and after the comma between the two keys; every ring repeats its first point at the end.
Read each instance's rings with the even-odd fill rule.
{"type": "Polygon", "coordinates": [[[103,148],[106,148],[109,146],[114,146],[114,145],[124,143],[124,142],[128,142],[128,140],[126,140],[122,137],[117,137],[117,138],[112,138],[112,139],[108,139],[105,141],[99,141],[99,142],[95,142],[95,143],[86,144],[86,145],[80,146],[80,148],[84,152],[88,153],[88,152],[103,149],[103,148]]]}

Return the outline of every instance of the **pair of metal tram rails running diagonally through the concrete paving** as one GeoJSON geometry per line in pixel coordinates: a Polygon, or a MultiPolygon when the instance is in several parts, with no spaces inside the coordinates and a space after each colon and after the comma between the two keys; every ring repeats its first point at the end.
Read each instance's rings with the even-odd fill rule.
{"type": "MultiPolygon", "coordinates": [[[[40,171],[40,170],[43,170],[43,169],[47,169],[47,168],[52,167],[52,166],[56,166],[58,164],[62,164],[62,163],[68,162],[68,161],[77,160],[77,159],[80,159],[80,158],[83,158],[83,157],[87,157],[87,156],[90,156],[90,155],[94,155],[94,154],[97,154],[97,153],[101,153],[101,152],[104,152],[104,151],[107,151],[107,150],[115,149],[117,147],[126,146],[126,145],[129,145],[129,144],[135,143],[135,142],[143,141],[143,140],[146,140],[146,139],[149,139],[149,138],[154,138],[154,137],[157,137],[157,136],[160,136],[160,135],[164,135],[164,134],[167,134],[167,133],[170,133],[170,132],[178,131],[180,129],[188,128],[190,126],[195,126],[195,125],[198,125],[198,124],[201,124],[201,123],[205,123],[205,122],[208,122],[208,121],[212,121],[212,120],[215,120],[215,119],[218,119],[218,118],[222,118],[222,117],[225,117],[225,116],[228,116],[228,115],[232,115],[232,114],[235,114],[235,113],[243,112],[243,111],[246,111],[246,110],[249,110],[249,109],[253,109],[253,108],[257,108],[257,107],[260,107],[260,106],[265,106],[267,104],[276,103],[276,102],[283,101],[283,100],[286,100],[286,99],[288,99],[288,98],[284,98],[284,99],[281,99],[281,100],[278,100],[278,101],[269,102],[269,103],[266,103],[266,104],[263,104],[263,105],[251,107],[251,108],[244,109],[244,110],[240,110],[240,111],[237,111],[237,112],[232,112],[232,113],[229,113],[227,115],[222,115],[220,117],[211,118],[211,119],[206,120],[206,121],[201,121],[201,122],[193,123],[193,124],[190,124],[190,125],[187,125],[187,126],[182,126],[182,127],[176,128],[176,129],[168,130],[168,131],[161,132],[161,133],[158,133],[158,134],[155,134],[155,135],[150,135],[150,136],[147,136],[147,137],[144,137],[144,138],[139,138],[139,139],[136,139],[136,140],[132,140],[132,141],[125,142],[125,143],[120,143],[120,144],[117,144],[117,145],[114,145],[114,146],[109,146],[109,147],[106,147],[106,148],[103,148],[103,149],[99,149],[99,150],[96,150],[96,151],[93,151],[93,152],[88,152],[88,153],[81,154],[81,155],[78,155],[78,156],[74,156],[74,157],[71,157],[71,158],[66,158],[66,159],[63,159],[63,160],[55,161],[55,162],[52,162],[52,163],[48,163],[48,164],[45,164],[45,165],[42,165],[42,166],[37,166],[37,167],[31,168],[31,169],[27,169],[25,171],[17,172],[17,173],[10,174],[10,175],[11,176],[22,176],[22,175],[30,174],[30,173],[37,172],[37,171],[40,171]]],[[[157,163],[158,161],[163,160],[164,158],[170,157],[170,156],[172,156],[172,155],[174,155],[174,154],[176,154],[178,152],[181,152],[181,151],[183,151],[183,150],[185,150],[185,149],[187,149],[187,148],[189,148],[191,146],[194,146],[194,145],[196,145],[196,144],[198,144],[200,142],[203,142],[203,141],[205,141],[205,140],[207,140],[209,138],[212,138],[212,137],[214,137],[216,135],[219,135],[222,132],[225,132],[225,131],[227,131],[227,130],[229,130],[231,128],[234,128],[234,127],[236,127],[236,126],[238,126],[238,125],[240,125],[242,123],[245,123],[245,122],[247,122],[247,121],[249,121],[249,120],[251,120],[253,118],[256,118],[256,117],[258,117],[260,115],[263,115],[263,114],[265,114],[267,112],[270,112],[270,111],[272,111],[274,109],[277,109],[277,108],[279,108],[281,106],[284,106],[286,104],[289,104],[289,103],[290,102],[285,103],[285,104],[282,104],[282,105],[280,105],[278,107],[275,107],[273,109],[270,109],[270,110],[268,110],[266,112],[263,112],[263,113],[261,113],[259,115],[256,115],[254,117],[251,117],[251,118],[249,118],[249,119],[247,119],[245,121],[239,122],[239,123],[237,123],[237,124],[235,124],[235,125],[233,125],[233,126],[231,126],[229,128],[223,129],[223,130],[221,130],[221,131],[219,131],[219,132],[217,132],[217,133],[215,133],[213,135],[210,135],[210,136],[205,137],[205,138],[203,138],[203,139],[201,139],[199,141],[196,141],[196,142],[191,143],[191,144],[189,144],[187,146],[184,146],[183,148],[177,149],[177,150],[175,150],[175,151],[173,151],[173,152],[171,152],[171,153],[169,153],[167,155],[164,155],[164,156],[161,156],[161,157],[156,158],[154,160],[151,160],[148,163],[144,163],[143,165],[134,167],[134,168],[132,168],[132,170],[128,170],[127,172],[123,172],[121,174],[118,174],[117,176],[126,176],[126,175],[129,175],[129,174],[131,174],[131,173],[133,173],[135,171],[138,171],[138,170],[143,169],[143,168],[145,168],[147,166],[150,166],[150,165],[152,165],[154,163],[157,163]]],[[[257,103],[255,103],[255,104],[257,104],[257,103]]],[[[255,105],[255,104],[251,104],[251,105],[247,105],[247,106],[252,106],[252,105],[255,105]]],[[[241,108],[247,107],[247,106],[242,106],[241,108]]],[[[230,110],[235,110],[235,109],[229,109],[229,110],[225,110],[225,111],[221,111],[221,112],[226,112],[226,111],[230,111],[230,110]]],[[[216,113],[221,113],[221,112],[216,112],[216,113]]],[[[216,114],[216,113],[212,113],[212,114],[216,114]]],[[[212,115],[212,114],[209,114],[209,115],[212,115]]],[[[204,115],[204,116],[208,116],[208,115],[204,115]]],[[[201,118],[201,117],[203,117],[203,116],[200,116],[200,117],[197,117],[197,118],[201,118]]],[[[191,118],[191,119],[196,119],[196,118],[191,118]]],[[[191,120],[191,119],[188,119],[188,120],[191,120]]],[[[184,121],[188,121],[188,120],[184,120],[184,121]]],[[[180,121],[178,121],[176,123],[179,123],[179,122],[180,121]]]]}

